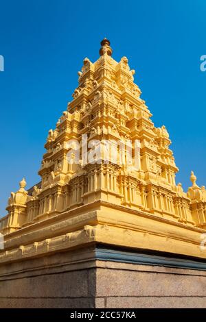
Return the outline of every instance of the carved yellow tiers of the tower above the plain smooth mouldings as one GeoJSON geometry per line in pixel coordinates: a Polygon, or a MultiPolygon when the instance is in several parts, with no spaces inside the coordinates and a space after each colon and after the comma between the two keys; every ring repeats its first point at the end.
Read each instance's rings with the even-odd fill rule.
{"type": "Polygon", "coordinates": [[[11,193],[8,214],[0,219],[3,234],[78,211],[97,201],[185,227],[206,228],[205,187],[197,186],[194,173],[187,193],[181,184],[176,184],[179,169],[170,149],[168,131],[164,125],[155,127],[152,123],[152,114],[140,97],[128,59],[123,57],[116,62],[111,53],[108,40],[103,40],[100,58],[94,63],[84,59],[73,100],[56,128],[49,130],[38,172],[41,183],[27,191],[23,179],[19,190],[11,193]],[[104,140],[139,140],[139,169],[119,162],[122,151],[118,147],[115,162],[105,163],[101,154],[98,162],[81,159],[76,164],[72,151],[76,142],[80,151],[83,149],[85,136],[89,152],[93,151],[94,140],[101,140],[100,145],[104,145],[104,140]]]}

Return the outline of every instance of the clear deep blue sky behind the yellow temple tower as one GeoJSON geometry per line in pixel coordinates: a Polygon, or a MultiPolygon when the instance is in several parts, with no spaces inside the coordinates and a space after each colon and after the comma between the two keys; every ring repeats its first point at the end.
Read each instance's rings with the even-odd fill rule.
{"type": "Polygon", "coordinates": [[[0,0],[0,12],[0,215],[23,176],[27,187],[39,181],[47,132],[104,37],[136,70],[152,121],[168,128],[176,181],[187,189],[194,170],[206,185],[205,0],[0,0]]]}

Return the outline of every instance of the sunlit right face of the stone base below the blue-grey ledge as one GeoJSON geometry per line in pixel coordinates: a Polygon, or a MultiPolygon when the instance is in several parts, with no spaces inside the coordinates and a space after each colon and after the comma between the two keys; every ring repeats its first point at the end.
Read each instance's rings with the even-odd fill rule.
{"type": "Polygon", "coordinates": [[[206,308],[206,272],[101,262],[97,308],[206,308]]]}

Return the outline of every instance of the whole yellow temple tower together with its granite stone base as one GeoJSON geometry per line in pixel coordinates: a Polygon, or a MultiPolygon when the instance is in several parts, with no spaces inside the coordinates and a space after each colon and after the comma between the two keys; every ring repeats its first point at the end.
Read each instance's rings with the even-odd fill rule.
{"type": "Polygon", "coordinates": [[[176,184],[168,131],[152,123],[128,59],[112,53],[104,38],[100,58],[84,59],[49,130],[41,182],[25,190],[23,179],[8,199],[0,307],[178,307],[180,296],[205,306],[194,292],[198,277],[205,296],[205,187],[193,172],[187,193],[176,184]]]}

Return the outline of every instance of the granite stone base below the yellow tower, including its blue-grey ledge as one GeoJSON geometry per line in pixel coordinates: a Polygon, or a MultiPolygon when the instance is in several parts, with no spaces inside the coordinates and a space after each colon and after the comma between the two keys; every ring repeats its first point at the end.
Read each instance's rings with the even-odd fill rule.
{"type": "Polygon", "coordinates": [[[53,253],[0,266],[0,308],[206,308],[206,263],[95,245],[53,253]]]}

